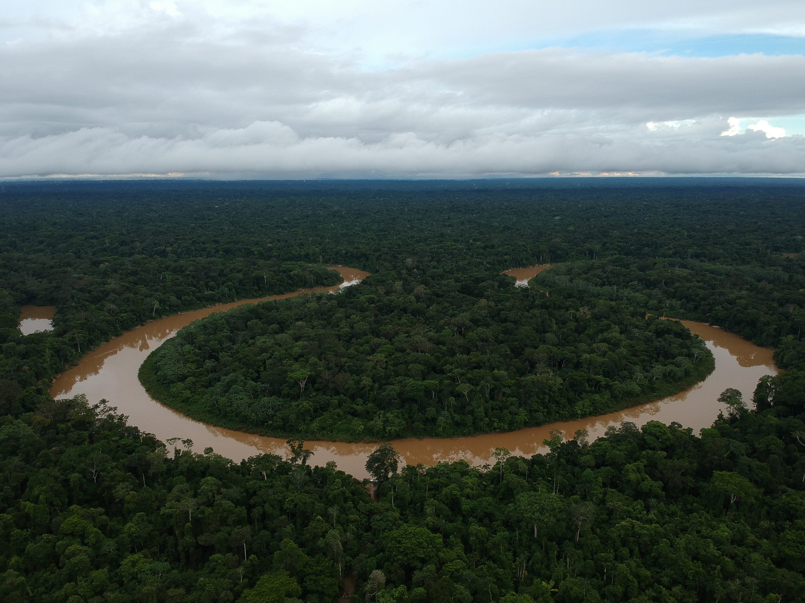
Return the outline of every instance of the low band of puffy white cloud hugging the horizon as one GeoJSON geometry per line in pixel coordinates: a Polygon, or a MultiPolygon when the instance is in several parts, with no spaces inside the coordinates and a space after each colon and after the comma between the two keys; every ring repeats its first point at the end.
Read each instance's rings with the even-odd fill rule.
{"type": "Polygon", "coordinates": [[[712,124],[703,126],[704,131],[652,133],[650,137],[634,129],[535,136],[490,133],[450,143],[395,133],[373,143],[354,137],[296,137],[285,125],[258,122],[244,129],[211,129],[192,138],[128,137],[111,128],[36,139],[16,137],[4,142],[0,154],[3,175],[179,172],[271,178],[473,177],[626,171],[799,174],[803,170],[801,137],[772,141],[758,132],[725,143],[719,129],[719,124],[712,124]],[[256,140],[255,134],[266,137],[256,140]],[[38,171],[31,172],[30,166],[38,171]]]}

